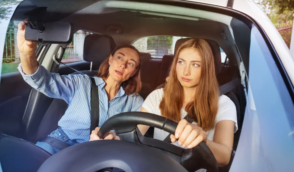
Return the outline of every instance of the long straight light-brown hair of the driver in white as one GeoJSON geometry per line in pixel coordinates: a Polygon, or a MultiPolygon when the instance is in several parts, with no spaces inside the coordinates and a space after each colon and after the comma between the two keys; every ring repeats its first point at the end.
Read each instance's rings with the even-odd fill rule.
{"type": "Polygon", "coordinates": [[[179,53],[185,48],[195,48],[201,55],[201,78],[197,85],[193,101],[188,102],[185,111],[189,119],[198,122],[204,131],[214,127],[218,111],[218,82],[215,74],[214,58],[211,47],[204,39],[193,38],[184,42],[176,51],[169,81],[163,89],[163,98],[159,104],[162,116],[176,122],[181,120],[183,106],[183,88],[177,79],[176,65],[179,53]]]}

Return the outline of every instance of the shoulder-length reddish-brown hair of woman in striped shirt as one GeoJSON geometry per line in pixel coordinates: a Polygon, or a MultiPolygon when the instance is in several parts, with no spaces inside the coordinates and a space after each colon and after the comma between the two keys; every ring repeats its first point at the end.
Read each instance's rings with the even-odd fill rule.
{"type": "MultiPolygon", "coordinates": [[[[128,80],[123,81],[123,83],[121,84],[123,87],[123,90],[125,90],[127,95],[130,94],[134,94],[136,95],[142,88],[142,82],[141,82],[141,54],[140,52],[132,45],[129,44],[124,44],[121,46],[116,47],[112,52],[111,52],[111,56],[114,56],[114,54],[116,53],[117,50],[121,49],[121,48],[130,48],[133,49],[134,51],[136,51],[136,53],[139,56],[139,62],[138,65],[136,66],[136,73],[135,75],[131,76],[128,80]]],[[[100,65],[99,67],[99,71],[98,71],[98,75],[97,77],[101,77],[103,79],[107,78],[109,75],[109,58],[110,55],[108,56],[108,58],[106,58],[100,65]]]]}

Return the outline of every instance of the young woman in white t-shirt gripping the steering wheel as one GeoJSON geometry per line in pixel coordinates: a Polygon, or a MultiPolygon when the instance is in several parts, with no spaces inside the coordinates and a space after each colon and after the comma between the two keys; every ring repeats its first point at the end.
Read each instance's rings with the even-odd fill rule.
{"type": "MultiPolygon", "coordinates": [[[[192,148],[204,141],[219,166],[228,164],[238,129],[236,109],[227,96],[220,96],[213,53],[204,39],[189,39],[179,47],[168,82],[148,95],[141,111],[178,122],[175,135],[171,135],[173,144],[192,148]],[[186,115],[194,122],[183,119],[186,115]]],[[[143,135],[149,128],[138,127],[143,135]]],[[[166,136],[167,132],[155,128],[155,139],[166,136]]]]}

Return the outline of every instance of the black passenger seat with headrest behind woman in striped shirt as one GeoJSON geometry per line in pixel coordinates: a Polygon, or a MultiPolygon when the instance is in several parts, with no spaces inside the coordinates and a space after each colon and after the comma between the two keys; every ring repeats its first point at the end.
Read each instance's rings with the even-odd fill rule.
{"type": "MultiPolygon", "coordinates": [[[[83,58],[85,61],[93,62],[93,65],[99,66],[100,63],[111,54],[114,48],[115,42],[110,36],[96,34],[87,35],[84,41],[83,58]]],[[[98,74],[98,70],[82,70],[80,72],[89,76],[98,74]]],[[[79,73],[74,72],[72,74],[79,73]]],[[[64,100],[53,99],[39,125],[36,138],[37,141],[44,139],[52,131],[58,128],[57,123],[64,115],[67,106],[68,105],[64,100]]]]}

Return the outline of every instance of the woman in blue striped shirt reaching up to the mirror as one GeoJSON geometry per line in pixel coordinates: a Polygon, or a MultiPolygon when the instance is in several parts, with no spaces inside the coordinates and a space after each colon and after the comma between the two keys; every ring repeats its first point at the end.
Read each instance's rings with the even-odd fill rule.
{"type": "MultiPolygon", "coordinates": [[[[35,54],[36,43],[24,39],[26,23],[19,23],[17,32],[21,75],[36,90],[52,98],[64,99],[69,104],[58,122],[60,127],[49,136],[68,145],[89,141],[91,79],[87,75],[60,76],[49,73],[39,65],[35,54]]],[[[141,109],[143,99],[138,94],[142,85],[140,62],[139,51],[131,45],[123,45],[114,49],[108,59],[101,63],[98,77],[94,77],[99,90],[99,126],[117,113],[141,109]]],[[[115,137],[115,133],[111,132],[105,139],[115,137]]],[[[51,154],[59,151],[46,142],[37,142],[36,145],[51,154]]]]}

